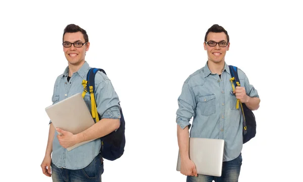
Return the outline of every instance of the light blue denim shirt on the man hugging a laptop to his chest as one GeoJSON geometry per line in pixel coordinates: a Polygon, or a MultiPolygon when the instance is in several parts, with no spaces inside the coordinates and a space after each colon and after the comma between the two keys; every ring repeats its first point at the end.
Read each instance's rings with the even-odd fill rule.
{"type": "MultiPolygon", "coordinates": [[[[89,65],[85,61],[82,67],[71,76],[67,81],[69,68],[67,67],[64,73],[56,79],[54,86],[54,95],[52,97],[53,104],[71,97],[77,93],[83,92],[82,80],[86,80],[86,75],[89,70],[89,65]]],[[[111,80],[106,74],[98,71],[95,75],[95,101],[97,111],[101,118],[120,119],[119,98],[111,83],[111,80]]],[[[84,96],[84,101],[91,112],[90,95],[87,92],[84,96]]],[[[51,123],[50,121],[49,123],[51,123]]],[[[71,151],[63,148],[57,138],[58,132],[55,132],[53,140],[52,162],[57,167],[67,169],[82,169],[86,167],[95,156],[98,155],[101,147],[100,139],[96,139],[82,146],[79,146],[71,151]]]]}

